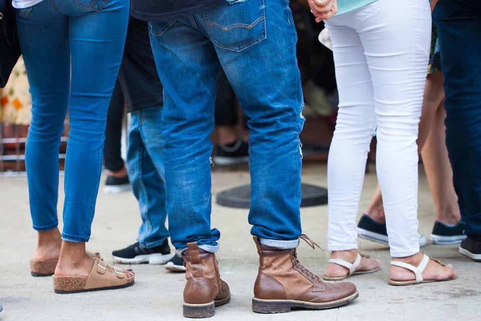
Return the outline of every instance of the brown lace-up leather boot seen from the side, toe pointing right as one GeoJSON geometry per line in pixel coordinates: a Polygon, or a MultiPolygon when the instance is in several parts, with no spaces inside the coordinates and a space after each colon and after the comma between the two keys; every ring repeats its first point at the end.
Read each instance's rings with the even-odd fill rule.
{"type": "MultiPolygon", "coordinates": [[[[304,234],[299,238],[312,248],[317,245],[304,234]]],[[[296,249],[269,247],[260,244],[257,237],[254,241],[260,256],[252,299],[254,312],[290,312],[292,307],[326,309],[350,303],[358,297],[353,283],[324,283],[309,272],[297,259],[296,249]]]]}

